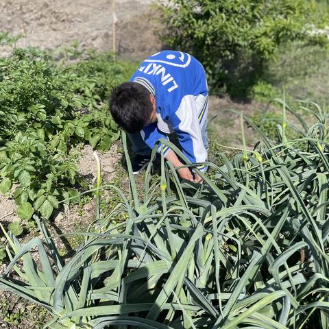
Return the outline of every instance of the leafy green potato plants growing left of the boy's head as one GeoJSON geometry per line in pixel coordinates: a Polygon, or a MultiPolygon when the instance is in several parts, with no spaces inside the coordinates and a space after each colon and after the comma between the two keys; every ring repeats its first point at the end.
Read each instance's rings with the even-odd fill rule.
{"type": "Polygon", "coordinates": [[[110,55],[93,51],[13,49],[0,58],[0,192],[15,186],[21,219],[49,219],[59,202],[77,201],[87,186],[72,149],[108,150],[118,138],[106,99],[124,79],[110,55]]]}

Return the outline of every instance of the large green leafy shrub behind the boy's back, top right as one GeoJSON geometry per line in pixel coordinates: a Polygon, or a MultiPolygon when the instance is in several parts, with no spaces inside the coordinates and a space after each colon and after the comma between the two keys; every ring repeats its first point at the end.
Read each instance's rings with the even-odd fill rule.
{"type": "Polygon", "coordinates": [[[328,21],[328,9],[320,10],[316,1],[171,0],[162,9],[164,41],[204,64],[212,91],[226,86],[231,94],[247,95],[280,45],[328,43],[326,36],[309,33],[310,25],[328,21]]]}

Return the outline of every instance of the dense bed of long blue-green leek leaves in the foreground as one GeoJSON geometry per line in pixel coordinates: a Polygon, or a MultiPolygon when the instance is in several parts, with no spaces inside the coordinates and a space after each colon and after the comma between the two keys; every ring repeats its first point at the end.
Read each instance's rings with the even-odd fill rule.
{"type": "Polygon", "coordinates": [[[97,188],[122,202],[75,233],[86,239],[66,263],[38,217],[42,239],[21,244],[4,231],[11,262],[0,288],[45,307],[45,328],[329,328],[328,116],[315,104],[284,108],[300,138],[273,143],[243,116],[261,142],[219,154],[211,179],[199,172],[203,184],[180,181],[162,156],[160,180],[149,164],[138,197],[127,157],[129,197],[97,188]]]}

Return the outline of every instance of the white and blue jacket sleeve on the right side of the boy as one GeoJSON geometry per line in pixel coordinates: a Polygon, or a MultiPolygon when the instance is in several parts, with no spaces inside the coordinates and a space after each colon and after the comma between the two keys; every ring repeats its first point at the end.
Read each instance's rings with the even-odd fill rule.
{"type": "MultiPolygon", "coordinates": [[[[206,162],[208,152],[202,141],[201,128],[193,95],[186,95],[182,98],[178,110],[172,114],[171,123],[178,134],[178,141],[182,152],[192,163],[206,162]]],[[[199,170],[206,169],[200,165],[199,170]]]]}

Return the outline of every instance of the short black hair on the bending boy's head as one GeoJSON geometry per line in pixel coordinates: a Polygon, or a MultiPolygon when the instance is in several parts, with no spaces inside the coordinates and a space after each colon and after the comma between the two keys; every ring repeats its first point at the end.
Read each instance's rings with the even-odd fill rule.
{"type": "Polygon", "coordinates": [[[124,82],[112,90],[110,112],[125,132],[140,132],[149,123],[153,110],[150,95],[136,82],[124,82]]]}

